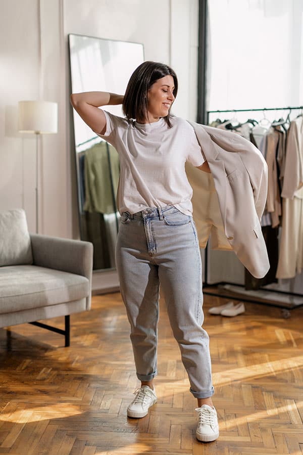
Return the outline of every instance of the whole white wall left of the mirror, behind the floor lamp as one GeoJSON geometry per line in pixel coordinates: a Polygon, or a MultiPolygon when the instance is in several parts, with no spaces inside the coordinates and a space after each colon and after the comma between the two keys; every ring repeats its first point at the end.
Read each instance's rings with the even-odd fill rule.
{"type": "MultiPolygon", "coordinates": [[[[60,100],[59,5],[12,0],[0,16],[0,210],[23,207],[31,231],[35,229],[35,138],[18,133],[17,105],[19,100],[60,100]]],[[[64,117],[64,106],[59,104],[59,134],[40,138],[39,231],[68,237],[64,117]]]]}

